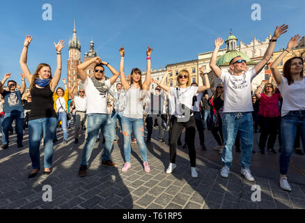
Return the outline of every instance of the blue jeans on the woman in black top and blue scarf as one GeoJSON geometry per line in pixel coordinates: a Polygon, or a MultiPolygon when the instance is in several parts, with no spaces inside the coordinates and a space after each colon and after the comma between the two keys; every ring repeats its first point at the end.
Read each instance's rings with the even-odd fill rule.
{"type": "Polygon", "coordinates": [[[38,118],[29,121],[29,152],[33,169],[40,167],[40,139],[43,134],[45,147],[45,168],[52,166],[53,137],[56,128],[56,118],[38,118]]]}

